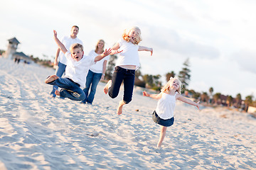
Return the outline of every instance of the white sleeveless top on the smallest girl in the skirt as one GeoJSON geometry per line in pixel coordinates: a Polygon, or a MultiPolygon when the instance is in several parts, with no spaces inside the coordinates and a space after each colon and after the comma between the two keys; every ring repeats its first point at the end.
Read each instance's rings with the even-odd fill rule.
{"type": "MultiPolygon", "coordinates": [[[[176,93],[177,94],[177,93],[176,93]]],[[[162,96],[157,103],[156,113],[161,119],[170,119],[174,117],[174,108],[176,106],[176,94],[171,96],[162,92],[162,96]]]]}

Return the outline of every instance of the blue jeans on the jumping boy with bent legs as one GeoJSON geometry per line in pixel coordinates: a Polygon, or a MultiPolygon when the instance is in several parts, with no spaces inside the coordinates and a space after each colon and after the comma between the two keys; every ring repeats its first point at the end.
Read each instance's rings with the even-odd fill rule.
{"type": "Polygon", "coordinates": [[[70,98],[73,101],[82,101],[85,99],[85,93],[80,89],[80,85],[71,79],[58,78],[48,84],[63,88],[60,90],[60,97],[70,98]]]}

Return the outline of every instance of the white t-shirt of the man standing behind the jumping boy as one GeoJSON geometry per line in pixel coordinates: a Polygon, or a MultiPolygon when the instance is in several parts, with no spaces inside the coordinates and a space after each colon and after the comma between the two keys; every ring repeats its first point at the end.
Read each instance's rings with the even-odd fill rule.
{"type": "MultiPolygon", "coordinates": [[[[68,52],[70,51],[70,46],[75,44],[75,43],[80,43],[80,45],[82,45],[82,41],[79,40],[78,38],[71,38],[70,36],[64,36],[61,40],[61,42],[63,43],[63,45],[65,46],[65,48],[68,50],[68,52]]],[[[63,54],[62,51],[60,51],[60,54],[58,56],[58,61],[61,62],[62,64],[67,64],[67,59],[65,57],[65,55],[63,54]]]]}

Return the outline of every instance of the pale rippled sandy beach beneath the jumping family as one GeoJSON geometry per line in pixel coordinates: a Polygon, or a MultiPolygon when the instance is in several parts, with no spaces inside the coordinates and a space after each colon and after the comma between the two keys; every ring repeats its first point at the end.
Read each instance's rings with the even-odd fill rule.
{"type": "Polygon", "coordinates": [[[256,119],[228,108],[176,103],[175,122],[156,148],[157,101],[135,88],[117,98],[97,86],[93,105],[49,98],[54,70],[0,58],[0,169],[256,169],[256,119]]]}

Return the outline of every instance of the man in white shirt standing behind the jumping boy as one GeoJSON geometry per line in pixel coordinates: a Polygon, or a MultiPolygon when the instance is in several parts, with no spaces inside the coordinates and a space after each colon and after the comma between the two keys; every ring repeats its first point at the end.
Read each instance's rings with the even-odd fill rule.
{"type": "MultiPolygon", "coordinates": [[[[77,37],[78,32],[79,32],[78,26],[73,26],[71,28],[70,36],[64,36],[62,38],[61,42],[63,43],[63,45],[65,45],[65,47],[66,47],[66,49],[68,49],[68,51],[70,49],[70,46],[75,43],[79,43],[82,45],[82,41],[79,40],[77,37]]],[[[66,59],[64,53],[60,51],[60,48],[58,48],[58,50],[56,52],[55,60],[54,60],[54,67],[56,67],[55,75],[57,75],[58,77],[62,77],[65,72],[66,65],[67,65],[67,59],[66,59]]],[[[52,98],[55,98],[56,90],[58,90],[58,86],[53,86],[53,90],[50,92],[50,96],[52,98]]]]}

